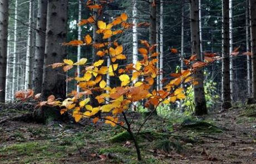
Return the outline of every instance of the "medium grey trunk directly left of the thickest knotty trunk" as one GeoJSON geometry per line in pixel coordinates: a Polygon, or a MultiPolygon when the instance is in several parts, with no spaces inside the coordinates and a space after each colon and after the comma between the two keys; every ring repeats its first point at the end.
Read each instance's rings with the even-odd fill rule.
{"type": "Polygon", "coordinates": [[[42,92],[43,58],[45,56],[46,15],[48,0],[38,0],[36,52],[33,70],[33,88],[35,93],[42,92]]]}

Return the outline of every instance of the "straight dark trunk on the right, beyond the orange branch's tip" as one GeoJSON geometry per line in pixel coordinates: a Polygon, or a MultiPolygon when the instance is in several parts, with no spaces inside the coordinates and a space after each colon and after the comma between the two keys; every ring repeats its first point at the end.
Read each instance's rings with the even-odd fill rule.
{"type": "Polygon", "coordinates": [[[231,107],[230,95],[230,72],[229,72],[229,0],[222,1],[222,107],[224,109],[231,107]]]}

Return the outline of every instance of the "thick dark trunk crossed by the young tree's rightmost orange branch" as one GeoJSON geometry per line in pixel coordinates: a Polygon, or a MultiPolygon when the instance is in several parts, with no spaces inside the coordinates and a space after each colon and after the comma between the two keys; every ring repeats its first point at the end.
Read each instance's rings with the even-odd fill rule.
{"type": "MultiPolygon", "coordinates": [[[[196,54],[198,61],[204,61],[200,52],[200,36],[199,36],[199,0],[190,1],[190,25],[191,25],[191,52],[196,54]]],[[[207,108],[204,94],[204,72],[200,69],[195,72],[194,78],[198,81],[198,85],[194,86],[195,97],[195,115],[206,115],[207,108]]]]}

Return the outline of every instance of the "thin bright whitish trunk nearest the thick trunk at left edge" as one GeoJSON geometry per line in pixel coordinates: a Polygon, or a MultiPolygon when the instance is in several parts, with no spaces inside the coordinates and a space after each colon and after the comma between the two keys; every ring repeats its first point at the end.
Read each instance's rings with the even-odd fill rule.
{"type": "Polygon", "coordinates": [[[15,1],[15,9],[14,9],[14,38],[13,38],[13,66],[12,66],[12,98],[14,99],[14,93],[16,92],[17,87],[17,76],[19,76],[17,69],[17,18],[18,18],[18,0],[15,1]]]}

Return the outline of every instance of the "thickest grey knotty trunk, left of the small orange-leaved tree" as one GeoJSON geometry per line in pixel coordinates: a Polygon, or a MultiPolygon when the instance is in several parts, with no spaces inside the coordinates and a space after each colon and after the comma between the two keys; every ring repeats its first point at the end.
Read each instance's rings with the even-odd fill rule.
{"type": "Polygon", "coordinates": [[[67,56],[61,43],[67,37],[67,0],[48,0],[45,61],[43,64],[42,98],[55,95],[66,97],[66,75],[62,68],[52,69],[49,64],[63,62],[67,56]]]}

